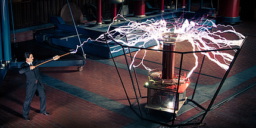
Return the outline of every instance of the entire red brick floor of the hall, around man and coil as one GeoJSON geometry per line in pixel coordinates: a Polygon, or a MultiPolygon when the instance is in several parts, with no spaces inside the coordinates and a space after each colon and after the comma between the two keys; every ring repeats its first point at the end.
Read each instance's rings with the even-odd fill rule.
{"type": "MultiPolygon", "coordinates": [[[[242,48],[241,54],[235,62],[232,70],[230,71],[229,78],[238,73],[242,73],[247,69],[251,69],[256,65],[254,56],[256,54],[255,36],[256,24],[252,21],[245,21],[241,24],[234,26],[238,32],[248,36],[245,45],[242,48]],[[249,24],[249,25],[248,25],[249,24]],[[248,28],[248,29],[247,29],[248,28]],[[254,28],[254,29],[252,29],[254,28]]],[[[142,53],[143,54],[143,53],[142,53]]],[[[139,58],[142,55],[139,54],[139,58]]],[[[147,56],[147,65],[151,67],[161,68],[161,58],[158,54],[150,53],[147,56]],[[153,62],[153,63],[152,63],[153,62]]],[[[188,57],[189,58],[189,57],[188,57]]],[[[131,111],[131,115],[126,113],[127,109],[117,107],[121,113],[113,107],[113,105],[121,105],[129,108],[124,89],[121,86],[120,79],[117,71],[113,65],[101,63],[100,61],[110,60],[95,60],[95,58],[88,58],[86,60],[83,71],[76,71],[77,67],[44,67],[40,68],[45,79],[46,89],[46,110],[51,113],[51,116],[39,114],[39,98],[34,97],[29,117],[32,121],[24,121],[21,118],[22,105],[26,92],[26,77],[17,72],[17,69],[12,68],[7,71],[7,74],[0,86],[0,126],[1,127],[166,127],[159,124],[143,122],[138,116],[131,111]],[[52,81],[51,81],[52,80],[52,81]],[[52,82],[52,83],[51,83],[52,82]],[[56,82],[56,83],[54,83],[56,82]],[[58,86],[52,86],[52,85],[58,86]],[[63,85],[61,85],[63,84],[63,85]],[[102,99],[90,100],[76,94],[74,88],[69,90],[61,89],[61,86],[68,85],[77,87],[88,94],[102,96],[102,99]],[[74,92],[72,92],[73,90],[74,92]],[[112,100],[114,102],[107,102],[105,105],[100,102],[101,100],[112,100]],[[110,104],[111,103],[111,104],[110,104]],[[114,103],[114,104],[113,104],[114,103]]],[[[125,64],[123,56],[115,57],[118,64],[125,64]]],[[[187,61],[185,70],[189,70],[193,61],[187,61]]],[[[218,82],[223,76],[224,71],[216,65],[211,64],[206,60],[204,65],[207,70],[202,71],[201,81],[199,84],[211,86],[218,82]]],[[[176,66],[177,67],[177,66],[176,66]]],[[[143,67],[139,67],[143,69],[143,67]]],[[[135,93],[131,86],[129,73],[124,68],[118,68],[123,79],[124,87],[132,102],[135,101],[135,93]]],[[[196,70],[198,71],[198,70],[196,70]]],[[[148,76],[144,74],[137,74],[142,96],[146,96],[146,89],[143,88],[143,83],[148,81],[148,76]]],[[[247,75],[247,74],[243,74],[247,75]]],[[[248,74],[249,75],[249,74],[248,74]]],[[[192,82],[195,82],[197,77],[196,73],[191,76],[192,82]]],[[[244,76],[241,76],[244,77],[244,76]]],[[[250,76],[248,76],[250,77],[250,76]]],[[[233,80],[238,80],[239,77],[233,80]]],[[[210,111],[203,121],[204,126],[201,127],[256,127],[256,109],[255,109],[255,85],[256,77],[251,77],[248,80],[243,80],[234,88],[230,88],[217,96],[214,105],[218,102],[225,101],[227,98],[236,95],[241,90],[252,86],[252,88],[245,90],[240,95],[230,98],[229,101],[224,102],[219,107],[210,111]]],[[[138,88],[136,88],[138,90],[138,88]]],[[[192,95],[192,88],[188,88],[186,95],[192,95]]],[[[198,93],[198,92],[197,92],[198,93]]],[[[207,108],[210,100],[202,103],[201,105],[207,108]]],[[[143,99],[141,104],[146,104],[143,99]]],[[[193,105],[189,102],[187,105],[193,105]]],[[[195,106],[195,105],[194,105],[195,106]]],[[[195,107],[185,113],[180,114],[175,123],[182,123],[188,121],[194,115],[201,113],[200,108],[195,107]]],[[[200,118],[199,118],[200,119],[200,118]]],[[[198,120],[195,120],[198,121],[198,120]]],[[[168,122],[170,123],[170,122],[168,122]]],[[[197,126],[184,126],[184,127],[197,127],[197,126]]]]}

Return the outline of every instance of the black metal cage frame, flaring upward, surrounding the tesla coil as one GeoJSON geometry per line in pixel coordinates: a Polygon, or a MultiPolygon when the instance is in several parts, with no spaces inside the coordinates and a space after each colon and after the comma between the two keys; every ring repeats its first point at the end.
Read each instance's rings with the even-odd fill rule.
{"type": "MultiPolygon", "coordinates": [[[[217,97],[218,93],[220,92],[220,89],[221,89],[221,87],[223,86],[223,83],[224,83],[224,81],[226,80],[227,75],[229,74],[229,72],[230,72],[230,70],[231,70],[233,64],[235,63],[235,60],[236,60],[236,58],[238,57],[239,52],[241,51],[242,46],[243,46],[243,44],[244,44],[244,42],[245,42],[245,40],[246,40],[246,38],[247,38],[247,37],[245,37],[245,39],[243,39],[243,42],[242,42],[241,46],[239,46],[238,48],[215,49],[215,50],[205,50],[205,51],[177,52],[177,51],[166,51],[166,50],[160,50],[160,49],[139,48],[139,47],[136,47],[136,46],[126,46],[126,45],[122,45],[122,44],[119,43],[119,42],[116,42],[113,38],[108,37],[107,35],[108,35],[108,33],[105,33],[105,34],[104,34],[105,40],[106,40],[106,43],[107,43],[107,46],[108,46],[110,52],[111,52],[111,49],[110,49],[110,46],[108,45],[107,39],[111,39],[113,42],[115,42],[115,43],[117,43],[118,45],[120,45],[121,48],[123,49],[124,58],[125,58],[125,60],[126,60],[127,68],[128,68],[129,75],[130,75],[130,80],[131,80],[131,82],[132,82],[133,90],[134,90],[135,96],[136,96],[136,101],[135,101],[135,102],[131,103],[131,101],[130,101],[130,99],[129,99],[129,96],[127,95],[126,88],[124,87],[123,80],[121,79],[121,75],[120,75],[120,73],[119,73],[119,71],[118,71],[118,67],[117,67],[117,65],[116,65],[116,63],[115,63],[115,60],[114,60],[114,57],[113,57],[112,54],[111,54],[111,57],[112,57],[112,59],[113,59],[113,63],[114,63],[114,65],[115,65],[115,69],[117,70],[117,73],[118,73],[118,76],[119,76],[119,78],[120,78],[121,84],[122,84],[122,86],[123,86],[124,92],[126,93],[126,97],[127,97],[128,102],[129,102],[130,108],[132,108],[132,110],[135,111],[135,109],[133,108],[133,106],[134,106],[135,104],[138,104],[139,113],[138,113],[137,111],[135,111],[135,113],[138,114],[139,117],[141,117],[143,120],[152,121],[152,122],[154,122],[154,123],[161,124],[161,125],[163,125],[163,126],[168,126],[168,127],[189,126],[189,125],[196,125],[196,124],[197,124],[197,125],[201,125],[201,124],[202,124],[202,121],[204,121],[206,115],[208,114],[208,112],[209,112],[209,111],[211,110],[211,108],[213,107],[214,101],[216,100],[216,97],[217,97]],[[132,76],[132,70],[130,70],[130,68],[129,68],[129,63],[128,63],[128,59],[127,59],[127,55],[126,55],[127,53],[126,53],[125,49],[128,49],[127,51],[129,52],[129,55],[130,55],[130,57],[131,57],[131,59],[132,59],[133,57],[132,57],[132,54],[131,54],[131,52],[130,52],[130,48],[146,49],[146,50],[160,51],[160,52],[173,52],[173,53],[176,53],[176,54],[180,54],[181,57],[180,57],[180,67],[179,67],[179,79],[178,79],[177,85],[180,85],[180,76],[181,76],[181,70],[182,70],[183,56],[184,56],[185,54],[193,54],[193,53],[199,53],[199,52],[213,52],[213,51],[230,51],[230,50],[232,50],[232,51],[233,51],[233,50],[236,50],[236,53],[235,53],[235,55],[234,55],[234,58],[233,58],[232,62],[231,62],[230,65],[229,65],[228,70],[226,70],[226,73],[224,74],[223,78],[221,79],[220,85],[218,85],[218,88],[216,89],[216,92],[214,93],[213,98],[211,98],[210,104],[208,105],[207,108],[202,107],[198,102],[196,102],[196,101],[193,100],[193,98],[194,98],[194,96],[195,96],[195,92],[196,92],[196,86],[198,85],[199,76],[200,76],[200,74],[201,74],[202,65],[204,64],[204,59],[205,59],[205,55],[204,55],[204,57],[203,57],[203,59],[202,59],[201,67],[200,67],[200,69],[199,69],[198,77],[197,77],[197,80],[196,80],[196,85],[195,85],[195,88],[194,88],[194,90],[193,90],[192,98],[191,98],[191,99],[187,99],[188,101],[191,101],[193,104],[195,104],[196,106],[198,106],[199,108],[201,108],[202,110],[204,110],[204,112],[201,114],[201,115],[202,115],[201,120],[198,121],[198,122],[195,122],[195,123],[190,123],[190,122],[188,121],[188,122],[186,122],[186,123],[174,124],[174,120],[176,120],[176,114],[173,114],[173,117],[171,118],[171,124],[169,124],[169,123],[165,123],[165,122],[163,122],[163,121],[155,121],[155,120],[151,120],[151,119],[149,119],[149,118],[143,117],[143,115],[142,115],[142,109],[141,109],[141,104],[139,103],[139,101],[140,101],[142,98],[146,98],[146,96],[142,96],[142,94],[141,94],[141,90],[140,90],[140,88],[139,88],[138,79],[137,79],[137,76],[136,76],[135,67],[132,66],[132,67],[133,67],[134,74],[135,74],[135,75],[134,75],[135,78],[132,76]],[[138,93],[137,93],[137,90],[136,90],[136,85],[135,85],[134,79],[136,80],[136,85],[137,85],[137,88],[138,88],[138,91],[139,91],[139,96],[138,96],[138,93]]],[[[125,36],[125,37],[126,37],[126,36],[125,36]]],[[[127,37],[126,37],[126,41],[127,41],[127,37]]],[[[179,86],[177,86],[176,101],[175,101],[175,102],[177,102],[177,100],[178,100],[178,99],[177,99],[178,90],[179,90],[179,86]]],[[[174,110],[176,110],[176,105],[174,105],[174,110]]],[[[175,113],[175,111],[174,111],[174,113],[175,113]]],[[[196,117],[196,118],[199,118],[199,117],[196,117]]],[[[192,121],[192,120],[190,120],[190,121],[192,121]]]]}

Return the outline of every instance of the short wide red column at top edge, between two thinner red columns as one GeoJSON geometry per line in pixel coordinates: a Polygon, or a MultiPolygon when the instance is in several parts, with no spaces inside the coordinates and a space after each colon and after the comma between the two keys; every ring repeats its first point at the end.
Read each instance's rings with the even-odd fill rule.
{"type": "Polygon", "coordinates": [[[145,1],[134,0],[134,16],[145,17],[145,1]]]}

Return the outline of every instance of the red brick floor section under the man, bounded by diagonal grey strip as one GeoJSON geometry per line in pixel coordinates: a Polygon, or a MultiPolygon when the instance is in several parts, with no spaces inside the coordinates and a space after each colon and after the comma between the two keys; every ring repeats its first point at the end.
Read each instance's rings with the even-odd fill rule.
{"type": "Polygon", "coordinates": [[[39,114],[39,98],[34,97],[29,114],[32,121],[24,121],[21,114],[25,80],[23,75],[11,70],[5,76],[1,86],[1,127],[123,127],[134,122],[47,85],[46,109],[51,116],[39,114]]]}

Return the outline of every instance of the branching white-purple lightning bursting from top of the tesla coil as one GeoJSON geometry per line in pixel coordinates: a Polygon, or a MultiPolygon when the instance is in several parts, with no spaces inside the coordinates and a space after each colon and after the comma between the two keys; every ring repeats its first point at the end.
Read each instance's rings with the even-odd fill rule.
{"type": "MultiPolygon", "coordinates": [[[[223,25],[216,25],[213,23],[213,21],[206,20],[203,23],[195,23],[193,21],[183,20],[181,23],[178,23],[178,21],[175,21],[174,23],[167,23],[166,20],[157,20],[154,19],[146,20],[145,22],[138,23],[136,21],[130,21],[124,18],[122,15],[117,15],[117,17],[122,17],[124,20],[128,21],[127,25],[120,26],[114,30],[110,31],[110,27],[113,23],[110,24],[107,31],[108,38],[114,39],[116,42],[121,43],[122,45],[126,46],[136,46],[139,44],[139,48],[145,48],[145,44],[149,42],[156,42],[156,46],[154,49],[161,49],[160,46],[163,46],[163,42],[158,41],[158,38],[161,38],[164,33],[177,33],[177,39],[176,42],[182,42],[184,40],[188,40],[189,43],[191,43],[191,46],[193,48],[193,51],[205,51],[205,50],[215,50],[215,49],[221,49],[221,48],[232,48],[233,46],[241,46],[243,39],[245,39],[245,36],[243,36],[241,33],[238,33],[233,29],[232,26],[223,26],[223,25]],[[169,24],[169,25],[167,25],[169,24]],[[171,26],[170,26],[171,24],[171,26]],[[209,25],[210,24],[210,25],[209,25]],[[167,27],[169,26],[169,27],[167,27]],[[225,27],[230,28],[228,30],[217,30],[216,32],[212,32],[211,30],[214,27],[225,27]],[[236,36],[238,36],[237,40],[229,40],[224,37],[222,37],[221,33],[233,33],[236,36]],[[126,36],[126,38],[125,38],[126,36]],[[207,41],[205,41],[207,40],[207,41]],[[211,46],[211,44],[214,44],[215,46],[211,46]],[[217,47],[217,48],[216,48],[217,47]]],[[[103,43],[110,43],[112,40],[105,40],[104,35],[102,34],[97,39],[92,40],[88,38],[85,42],[82,43],[82,45],[78,46],[76,50],[74,50],[71,53],[76,53],[77,49],[83,46],[84,43],[91,41],[97,41],[97,42],[103,42],[103,43]]],[[[114,49],[111,51],[111,53],[118,52],[122,49],[114,49]]],[[[143,67],[151,71],[151,68],[146,67],[146,65],[143,64],[143,60],[146,57],[146,50],[144,50],[144,55],[141,60],[141,63],[138,65],[133,65],[135,62],[136,55],[139,51],[142,49],[138,49],[136,51],[132,63],[130,64],[130,69],[133,67],[138,67],[139,65],[143,65],[143,67]]],[[[213,51],[213,52],[201,52],[201,54],[204,54],[209,60],[213,61],[217,65],[219,65],[224,70],[227,70],[229,68],[230,61],[233,60],[233,56],[230,54],[227,54],[225,52],[221,51],[213,51]],[[221,57],[222,61],[219,61],[216,57],[221,57]]],[[[190,73],[187,77],[191,76],[193,73],[193,70],[198,66],[198,57],[195,53],[193,53],[193,56],[195,57],[195,66],[191,69],[190,73]]]]}

